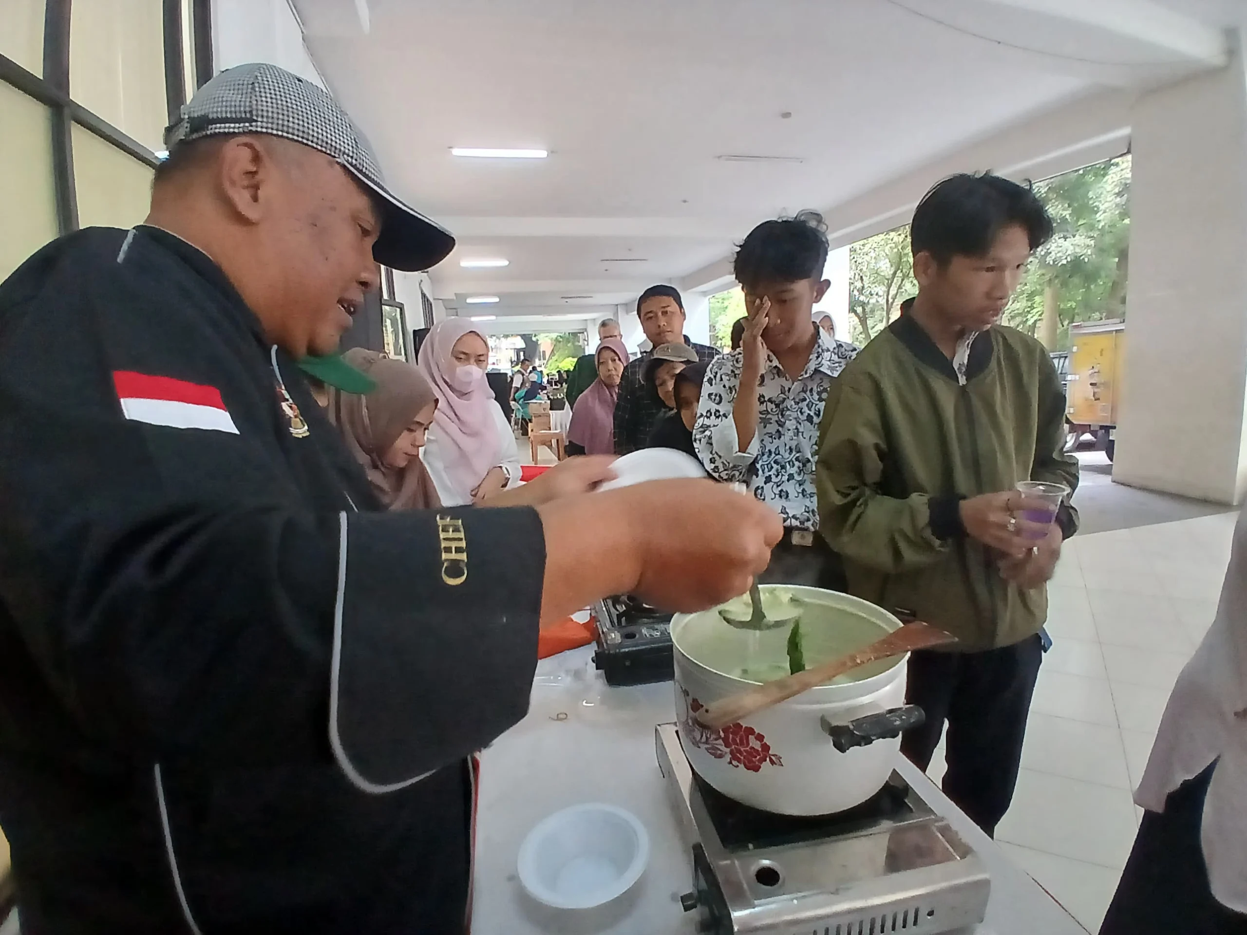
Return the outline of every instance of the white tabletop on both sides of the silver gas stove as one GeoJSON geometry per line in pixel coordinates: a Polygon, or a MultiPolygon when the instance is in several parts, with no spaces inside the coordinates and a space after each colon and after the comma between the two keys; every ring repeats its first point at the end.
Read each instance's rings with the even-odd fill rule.
{"type": "MultiPolygon", "coordinates": [[[[692,861],[655,758],[653,727],[673,719],[670,682],[610,687],[594,669],[591,646],[539,663],[529,716],[484,755],[474,935],[695,935],[695,914],[680,906],[680,895],[692,889],[692,861]],[[580,802],[614,803],[640,818],[650,833],[650,865],[606,906],[549,909],[516,878],[520,842],[547,814],[580,802]]],[[[988,864],[991,899],[975,935],[1085,935],[923,773],[900,757],[897,768],[988,864]]]]}

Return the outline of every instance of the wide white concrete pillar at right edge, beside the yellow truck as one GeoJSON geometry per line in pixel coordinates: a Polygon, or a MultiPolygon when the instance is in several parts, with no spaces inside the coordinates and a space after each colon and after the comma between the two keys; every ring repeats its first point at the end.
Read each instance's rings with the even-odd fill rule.
{"type": "Polygon", "coordinates": [[[1114,480],[1223,504],[1247,486],[1247,69],[1143,95],[1114,480]]]}

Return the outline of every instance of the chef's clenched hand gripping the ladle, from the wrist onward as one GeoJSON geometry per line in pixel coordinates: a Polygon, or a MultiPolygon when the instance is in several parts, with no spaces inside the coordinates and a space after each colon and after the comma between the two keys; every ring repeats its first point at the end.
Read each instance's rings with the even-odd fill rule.
{"type": "Polygon", "coordinates": [[[779,515],[708,480],[665,480],[614,491],[632,500],[625,549],[640,559],[632,592],[655,607],[693,612],[749,590],[783,536],[779,515]]]}

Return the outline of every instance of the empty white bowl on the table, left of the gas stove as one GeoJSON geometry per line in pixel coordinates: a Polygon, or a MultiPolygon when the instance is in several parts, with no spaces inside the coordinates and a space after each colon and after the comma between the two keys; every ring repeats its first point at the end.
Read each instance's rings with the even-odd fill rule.
{"type": "Polygon", "coordinates": [[[631,812],[590,802],[547,815],[520,845],[520,883],[555,909],[610,903],[641,879],[650,835],[631,812]]]}

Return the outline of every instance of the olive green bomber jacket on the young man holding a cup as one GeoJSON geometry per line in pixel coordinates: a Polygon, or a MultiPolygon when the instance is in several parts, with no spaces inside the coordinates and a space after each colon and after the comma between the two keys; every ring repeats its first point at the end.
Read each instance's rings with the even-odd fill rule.
{"type": "MultiPolygon", "coordinates": [[[[844,557],[849,591],[946,630],[959,650],[1039,632],[1046,586],[1000,577],[958,506],[1020,480],[1074,490],[1064,439],[1065,394],[1038,340],[1005,327],[978,335],[961,386],[913,318],[894,322],[832,381],[819,429],[821,531],[844,557]]],[[[1072,535],[1077,514],[1064,506],[1057,521],[1072,535]]]]}

